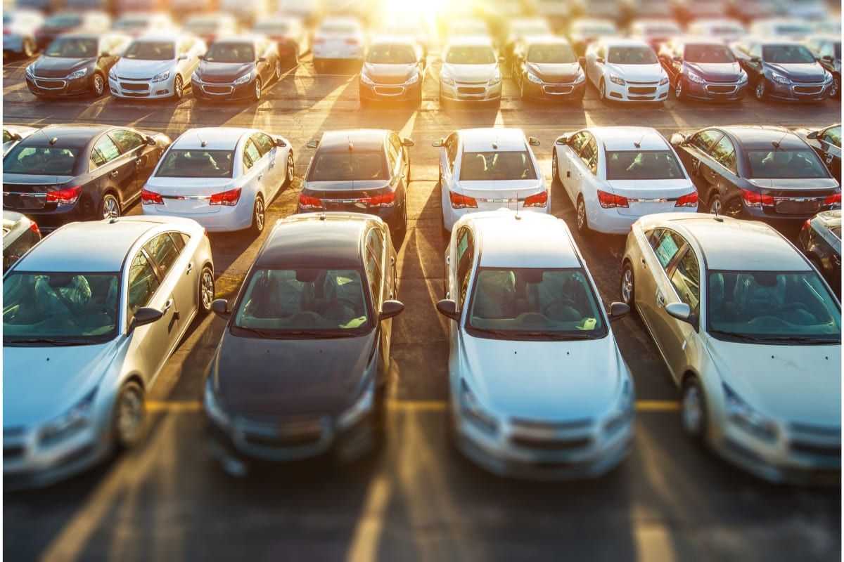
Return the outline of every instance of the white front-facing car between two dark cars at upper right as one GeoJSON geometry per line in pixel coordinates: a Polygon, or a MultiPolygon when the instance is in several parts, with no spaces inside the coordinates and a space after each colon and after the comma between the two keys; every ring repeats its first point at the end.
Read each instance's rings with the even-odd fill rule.
{"type": "Polygon", "coordinates": [[[586,76],[603,101],[662,102],[671,84],[657,54],[641,40],[607,39],[589,45],[586,76]]]}

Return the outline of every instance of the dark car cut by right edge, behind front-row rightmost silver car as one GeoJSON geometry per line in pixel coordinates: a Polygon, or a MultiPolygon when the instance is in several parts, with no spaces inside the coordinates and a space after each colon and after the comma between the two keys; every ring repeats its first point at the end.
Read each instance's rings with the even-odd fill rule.
{"type": "Polygon", "coordinates": [[[807,219],[798,246],[841,298],[841,210],[807,219]]]}

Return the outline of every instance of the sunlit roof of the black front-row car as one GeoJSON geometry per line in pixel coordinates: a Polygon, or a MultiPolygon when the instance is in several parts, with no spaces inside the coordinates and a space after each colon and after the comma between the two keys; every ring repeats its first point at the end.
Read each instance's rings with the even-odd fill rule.
{"type": "Polygon", "coordinates": [[[364,228],[376,220],[363,213],[345,212],[305,213],[279,219],[258,252],[255,266],[360,268],[360,238],[364,228]]]}

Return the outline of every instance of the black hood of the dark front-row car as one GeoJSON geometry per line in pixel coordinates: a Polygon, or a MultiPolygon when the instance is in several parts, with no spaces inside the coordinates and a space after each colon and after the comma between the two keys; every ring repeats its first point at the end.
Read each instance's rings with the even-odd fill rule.
{"type": "Polygon", "coordinates": [[[337,415],[374,370],[376,344],[374,330],[330,340],[242,338],[227,330],[211,376],[230,415],[337,415]]]}

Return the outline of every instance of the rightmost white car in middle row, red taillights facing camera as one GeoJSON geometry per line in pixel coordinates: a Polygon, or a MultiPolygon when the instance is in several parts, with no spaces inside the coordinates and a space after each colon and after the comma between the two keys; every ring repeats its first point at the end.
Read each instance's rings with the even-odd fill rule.
{"type": "Polygon", "coordinates": [[[683,163],[649,127],[591,127],[560,136],[551,177],[569,195],[582,233],[626,234],[644,215],[697,211],[697,190],[683,163]]]}

